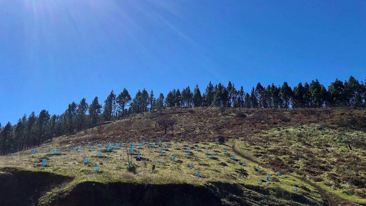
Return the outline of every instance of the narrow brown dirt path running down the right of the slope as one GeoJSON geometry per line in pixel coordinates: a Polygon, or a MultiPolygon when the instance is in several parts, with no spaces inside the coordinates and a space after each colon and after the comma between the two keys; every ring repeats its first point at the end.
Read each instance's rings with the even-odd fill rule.
{"type": "MultiPolygon", "coordinates": [[[[242,154],[241,152],[239,152],[238,150],[236,150],[235,143],[232,145],[231,148],[240,157],[248,159],[248,160],[250,160],[254,163],[257,163],[258,165],[262,165],[261,162],[259,162],[257,159],[248,157],[248,156],[242,154]]],[[[324,205],[329,205],[329,206],[339,206],[339,205],[341,205],[341,206],[355,206],[356,205],[356,204],[351,203],[350,201],[348,201],[346,199],[341,198],[340,196],[337,196],[337,195],[334,195],[334,194],[331,194],[331,193],[325,191],[320,185],[312,183],[311,181],[309,181],[309,180],[307,180],[303,177],[297,177],[297,176],[292,176],[292,177],[298,178],[301,181],[304,181],[305,183],[307,183],[307,184],[311,185],[312,187],[314,187],[319,192],[319,194],[321,195],[321,198],[324,202],[324,205]]]]}

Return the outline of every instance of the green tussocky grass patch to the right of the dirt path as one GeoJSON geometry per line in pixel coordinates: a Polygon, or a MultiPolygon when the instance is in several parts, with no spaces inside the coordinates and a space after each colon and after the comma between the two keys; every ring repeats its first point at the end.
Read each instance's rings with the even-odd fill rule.
{"type": "Polygon", "coordinates": [[[352,144],[353,150],[348,151],[341,142],[344,136],[358,137],[363,142],[366,139],[364,132],[319,128],[313,124],[273,128],[235,141],[240,152],[262,165],[269,166],[271,159],[279,158],[287,166],[284,169],[292,176],[304,176],[310,180],[318,178],[322,181],[313,181],[313,184],[319,185],[330,194],[353,203],[365,204],[365,197],[359,196],[366,195],[362,189],[364,187],[356,187],[350,181],[352,178],[362,179],[366,175],[365,148],[352,144]],[[301,138],[299,133],[303,134],[300,135],[301,138]],[[255,157],[253,154],[262,156],[255,157]],[[350,160],[344,159],[347,157],[350,160]],[[358,191],[358,194],[354,191],[358,191]]]}

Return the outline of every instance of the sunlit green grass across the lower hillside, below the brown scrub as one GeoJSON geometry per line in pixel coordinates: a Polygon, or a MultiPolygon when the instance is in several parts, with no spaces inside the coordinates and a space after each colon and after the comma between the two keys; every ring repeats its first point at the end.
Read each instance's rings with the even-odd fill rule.
{"type": "MultiPolygon", "coordinates": [[[[297,186],[298,195],[303,195],[319,203],[322,197],[316,188],[311,185],[317,184],[330,194],[340,196],[350,202],[366,203],[365,198],[358,196],[355,192],[345,192],[357,188],[350,185],[350,183],[346,185],[347,180],[342,179],[343,177],[338,178],[341,182],[340,186],[328,187],[325,185],[325,180],[333,173],[339,173],[339,167],[345,165],[339,159],[344,157],[344,155],[352,154],[360,158],[361,161],[366,161],[365,151],[362,148],[355,147],[350,152],[341,149],[344,148],[344,144],[339,140],[344,135],[364,137],[365,133],[352,130],[344,132],[334,128],[318,129],[317,125],[279,127],[263,130],[250,137],[229,139],[224,145],[214,142],[192,142],[191,144],[187,140],[182,142],[171,141],[171,145],[165,142],[168,151],[164,151],[163,143],[158,146],[156,141],[155,148],[151,147],[150,144],[142,144],[142,149],[138,148],[138,142],[134,142],[135,154],[132,155],[132,164],[136,166],[135,173],[128,172],[125,169],[128,166],[126,147],[111,149],[112,152],[107,152],[105,142],[103,142],[101,150],[104,158],[101,158],[98,157],[100,147],[92,144],[91,141],[79,142],[79,139],[74,139],[68,142],[67,137],[60,137],[52,143],[37,148],[36,154],[31,154],[32,150],[27,150],[20,152],[20,155],[2,156],[0,157],[0,165],[74,177],[74,180],[70,183],[61,188],[55,188],[42,196],[40,203],[43,205],[47,205],[53,197],[66,193],[74,185],[83,181],[97,181],[101,183],[119,181],[144,184],[188,183],[192,185],[207,185],[213,182],[221,182],[258,186],[260,180],[266,179],[267,173],[270,174],[270,181],[269,183],[264,181],[260,187],[270,191],[273,197],[279,196],[279,194],[284,192],[294,195],[294,187],[297,186]],[[299,133],[303,133],[302,138],[298,137],[299,133]],[[70,147],[80,148],[85,144],[83,151],[68,150],[70,147]],[[94,145],[94,150],[90,149],[91,145],[94,145]],[[233,145],[235,145],[236,150],[240,154],[248,158],[240,157],[239,154],[235,153],[232,148],[233,145]],[[187,146],[193,153],[192,155],[187,154],[187,146]],[[196,146],[198,146],[200,151],[196,151],[196,146]],[[51,150],[50,154],[45,152],[48,148],[51,150]],[[60,148],[63,149],[63,152],[59,152],[60,155],[53,155],[52,150],[60,148]],[[159,153],[160,148],[164,152],[163,155],[159,153]],[[42,153],[39,153],[39,151],[42,151],[42,153]],[[211,159],[209,155],[206,155],[206,151],[209,154],[212,152],[213,157],[218,158],[218,160],[211,159]],[[228,152],[228,155],[224,155],[225,151],[228,152]],[[136,161],[135,158],[138,153],[147,160],[136,161]],[[258,157],[258,154],[262,156],[258,157]],[[175,155],[175,162],[172,161],[172,155],[175,155]],[[231,155],[235,155],[235,161],[232,160],[231,155]],[[271,166],[269,160],[275,157],[280,158],[288,167],[282,169],[271,166]],[[46,167],[41,166],[42,158],[47,158],[46,167]],[[88,159],[87,164],[84,163],[85,158],[88,159]],[[161,165],[158,164],[158,161],[161,161],[161,165]],[[183,163],[178,163],[178,161],[183,161],[183,163]],[[247,166],[243,166],[244,162],[246,162],[247,166]],[[326,168],[331,168],[325,171],[317,167],[312,168],[315,171],[321,172],[317,177],[322,179],[322,181],[316,183],[312,181],[314,175],[307,173],[307,169],[310,168],[309,165],[313,162],[320,162],[317,167],[324,165],[326,168]],[[334,162],[337,165],[334,165],[334,162]],[[193,169],[190,169],[191,163],[193,163],[193,169]],[[227,166],[223,166],[224,164],[227,166]],[[155,172],[152,171],[153,165],[156,166],[155,172]],[[98,166],[99,170],[94,171],[94,166],[98,166]],[[259,173],[254,170],[257,166],[261,168],[259,173]],[[294,166],[298,168],[294,168],[294,166]],[[199,170],[201,178],[197,177],[197,170],[199,170]],[[243,172],[246,172],[248,175],[243,176],[243,172]],[[277,172],[281,172],[282,175],[277,176],[277,172]],[[275,180],[274,178],[277,181],[272,181],[275,180]],[[302,181],[302,178],[307,178],[311,181],[311,184],[302,181]]],[[[115,146],[116,143],[117,140],[115,141],[115,146]]],[[[360,164],[354,167],[351,169],[358,169],[358,175],[361,177],[366,175],[366,170],[360,170],[360,168],[363,168],[363,165],[360,164]]],[[[228,200],[224,198],[223,201],[228,200]]],[[[288,200],[285,199],[281,201],[284,204],[288,203],[288,200]]]]}

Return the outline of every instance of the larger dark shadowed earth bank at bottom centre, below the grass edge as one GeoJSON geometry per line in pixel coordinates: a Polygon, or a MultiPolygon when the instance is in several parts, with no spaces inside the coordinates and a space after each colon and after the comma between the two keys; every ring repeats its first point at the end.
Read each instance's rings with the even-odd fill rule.
{"type": "Polygon", "coordinates": [[[221,205],[203,186],[189,184],[134,184],[83,182],[49,205],[221,205]]]}

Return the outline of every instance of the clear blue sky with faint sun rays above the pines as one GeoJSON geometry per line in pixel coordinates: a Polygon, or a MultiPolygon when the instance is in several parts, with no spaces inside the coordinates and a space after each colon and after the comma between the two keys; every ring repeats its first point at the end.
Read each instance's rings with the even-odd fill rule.
{"type": "Polygon", "coordinates": [[[1,0],[0,122],[124,87],[365,80],[365,2],[1,0]]]}

